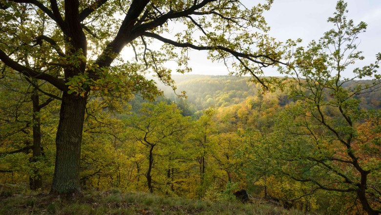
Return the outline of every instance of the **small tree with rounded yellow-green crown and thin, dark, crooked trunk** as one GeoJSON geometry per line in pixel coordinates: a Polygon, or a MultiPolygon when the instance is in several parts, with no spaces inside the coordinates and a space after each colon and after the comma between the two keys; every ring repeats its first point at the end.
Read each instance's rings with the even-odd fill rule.
{"type": "MultiPolygon", "coordinates": [[[[180,139],[184,136],[191,124],[188,117],[183,117],[175,104],[165,103],[143,104],[140,116],[132,116],[127,122],[130,139],[141,143],[148,150],[148,169],[146,173],[148,190],[153,192],[152,172],[154,166],[160,165],[155,161],[157,157],[166,156],[171,159],[171,154],[176,154],[173,149],[179,149],[180,139]],[[174,147],[171,147],[174,146],[174,147]],[[159,151],[159,152],[158,152],[159,151]]],[[[147,153],[147,151],[146,151],[147,153]]],[[[163,162],[163,161],[162,161],[163,162]]],[[[165,172],[173,167],[165,167],[165,172]]]]}

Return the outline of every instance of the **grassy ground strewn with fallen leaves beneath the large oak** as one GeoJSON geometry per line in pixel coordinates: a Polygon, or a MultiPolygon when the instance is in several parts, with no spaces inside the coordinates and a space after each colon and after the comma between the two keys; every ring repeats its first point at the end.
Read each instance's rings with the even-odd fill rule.
{"type": "Polygon", "coordinates": [[[118,189],[88,192],[70,198],[44,193],[0,192],[0,215],[301,215],[258,200],[250,203],[203,201],[118,189]]]}

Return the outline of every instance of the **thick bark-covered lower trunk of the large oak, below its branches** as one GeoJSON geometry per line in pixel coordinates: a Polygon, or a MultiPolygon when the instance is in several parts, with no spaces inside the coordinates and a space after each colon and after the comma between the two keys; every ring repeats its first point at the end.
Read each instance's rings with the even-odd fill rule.
{"type": "Polygon", "coordinates": [[[51,193],[80,192],[80,155],[86,97],[63,93],[56,136],[56,165],[51,193]]]}

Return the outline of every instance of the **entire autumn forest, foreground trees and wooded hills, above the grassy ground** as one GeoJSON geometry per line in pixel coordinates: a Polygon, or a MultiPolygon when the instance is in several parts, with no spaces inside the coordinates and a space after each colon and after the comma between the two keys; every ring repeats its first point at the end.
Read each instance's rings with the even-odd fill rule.
{"type": "Polygon", "coordinates": [[[281,43],[271,3],[0,0],[0,202],[8,188],[210,202],[245,189],[302,214],[380,214],[381,54],[360,64],[366,23],[339,0],[318,41],[281,43]],[[165,38],[176,21],[188,30],[165,38]],[[234,72],[184,74],[189,49],[234,72]]]}

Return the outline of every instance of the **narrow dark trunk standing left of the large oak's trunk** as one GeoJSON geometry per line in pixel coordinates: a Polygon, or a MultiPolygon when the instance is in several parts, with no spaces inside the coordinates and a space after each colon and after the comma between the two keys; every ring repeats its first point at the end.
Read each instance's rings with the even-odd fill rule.
{"type": "MultiPolygon", "coordinates": [[[[32,157],[30,163],[33,164],[41,158],[41,118],[40,118],[40,101],[37,89],[33,89],[32,92],[32,104],[33,104],[33,146],[32,157]]],[[[37,168],[33,167],[33,175],[29,177],[29,187],[31,190],[37,190],[42,188],[42,178],[37,168]]]]}

